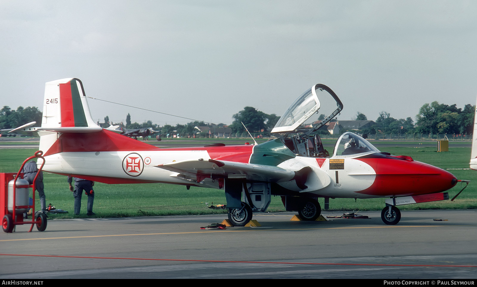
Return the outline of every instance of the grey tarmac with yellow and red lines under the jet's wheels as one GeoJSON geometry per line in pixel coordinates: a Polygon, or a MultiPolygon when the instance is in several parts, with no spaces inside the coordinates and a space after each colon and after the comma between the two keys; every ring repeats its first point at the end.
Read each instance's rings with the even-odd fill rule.
{"type": "Polygon", "coordinates": [[[477,277],[477,210],[403,211],[398,225],[377,211],[328,222],[293,214],[258,213],[262,227],[226,230],[200,229],[226,215],[49,220],[31,233],[20,225],[0,232],[0,278],[477,277]]]}

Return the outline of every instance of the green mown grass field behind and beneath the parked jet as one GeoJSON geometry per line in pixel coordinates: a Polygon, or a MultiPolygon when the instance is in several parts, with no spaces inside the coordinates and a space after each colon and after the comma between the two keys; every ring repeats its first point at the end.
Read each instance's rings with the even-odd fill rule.
{"type": "MultiPolygon", "coordinates": [[[[220,139],[219,141],[221,141],[220,139]]],[[[205,143],[210,143],[207,140],[205,143]]],[[[240,140],[242,142],[243,140],[240,140]]],[[[215,139],[217,142],[217,139],[215,139]]],[[[324,143],[329,150],[332,148],[324,143]]],[[[332,143],[331,143],[332,144],[332,143]]],[[[197,145],[201,145],[198,143],[197,145]]],[[[395,155],[409,155],[416,161],[436,165],[456,175],[458,179],[477,179],[477,172],[460,170],[469,167],[470,148],[451,148],[449,152],[437,153],[436,148],[399,147],[399,143],[381,148],[381,151],[395,155]]],[[[17,172],[21,163],[33,155],[31,149],[0,149],[0,172],[17,172]]],[[[51,215],[50,218],[72,218],[73,195],[68,189],[66,176],[57,174],[44,174],[45,194],[47,204],[51,203],[59,209],[69,211],[69,214],[51,215]]],[[[452,198],[462,188],[457,184],[449,190],[452,198]]],[[[191,187],[172,184],[102,184],[94,186],[95,199],[93,211],[95,217],[129,217],[147,215],[200,215],[225,213],[221,210],[207,208],[206,203],[225,204],[225,195],[222,190],[191,187]]],[[[477,208],[477,185],[471,182],[454,202],[450,200],[423,203],[414,205],[401,205],[401,210],[412,209],[470,209],[477,208]]],[[[86,195],[83,195],[82,214],[76,217],[86,217],[86,195]]],[[[323,207],[324,201],[320,199],[323,207]]],[[[35,204],[40,206],[37,200],[35,204]]],[[[354,199],[337,198],[330,200],[330,210],[381,210],[384,207],[384,198],[354,199]]],[[[284,211],[280,197],[273,197],[269,211],[284,211]]]]}

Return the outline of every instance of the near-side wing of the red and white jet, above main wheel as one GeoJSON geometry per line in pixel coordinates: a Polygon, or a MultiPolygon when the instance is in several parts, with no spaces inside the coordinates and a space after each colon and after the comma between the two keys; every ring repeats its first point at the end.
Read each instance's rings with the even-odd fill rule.
{"type": "Polygon", "coordinates": [[[295,179],[297,172],[278,166],[263,164],[244,164],[213,159],[197,159],[156,165],[172,172],[180,173],[188,178],[199,180],[204,175],[218,178],[247,178],[264,182],[280,182],[295,179]]]}

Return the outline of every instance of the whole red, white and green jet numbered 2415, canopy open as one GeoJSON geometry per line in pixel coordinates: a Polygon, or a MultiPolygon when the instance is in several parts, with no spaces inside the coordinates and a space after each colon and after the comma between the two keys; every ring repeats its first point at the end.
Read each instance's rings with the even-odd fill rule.
{"type": "Polygon", "coordinates": [[[384,197],[385,224],[397,224],[396,205],[448,199],[453,174],[381,153],[355,133],[343,133],[328,153],[316,131],[342,110],[327,86],[304,92],[273,128],[277,138],[258,145],[211,144],[160,149],[96,125],[83,84],[75,78],[47,82],[43,121],[38,131],[43,170],[107,184],[167,183],[225,191],[228,217],[243,226],[252,212],[263,212],[271,195],[304,220],[321,214],[316,198],[384,197]],[[324,102],[330,102],[324,106],[324,102]],[[323,107],[321,107],[323,105],[323,107]],[[324,108],[331,109],[323,112],[324,108]],[[317,121],[319,113],[328,114],[317,121]]]}

